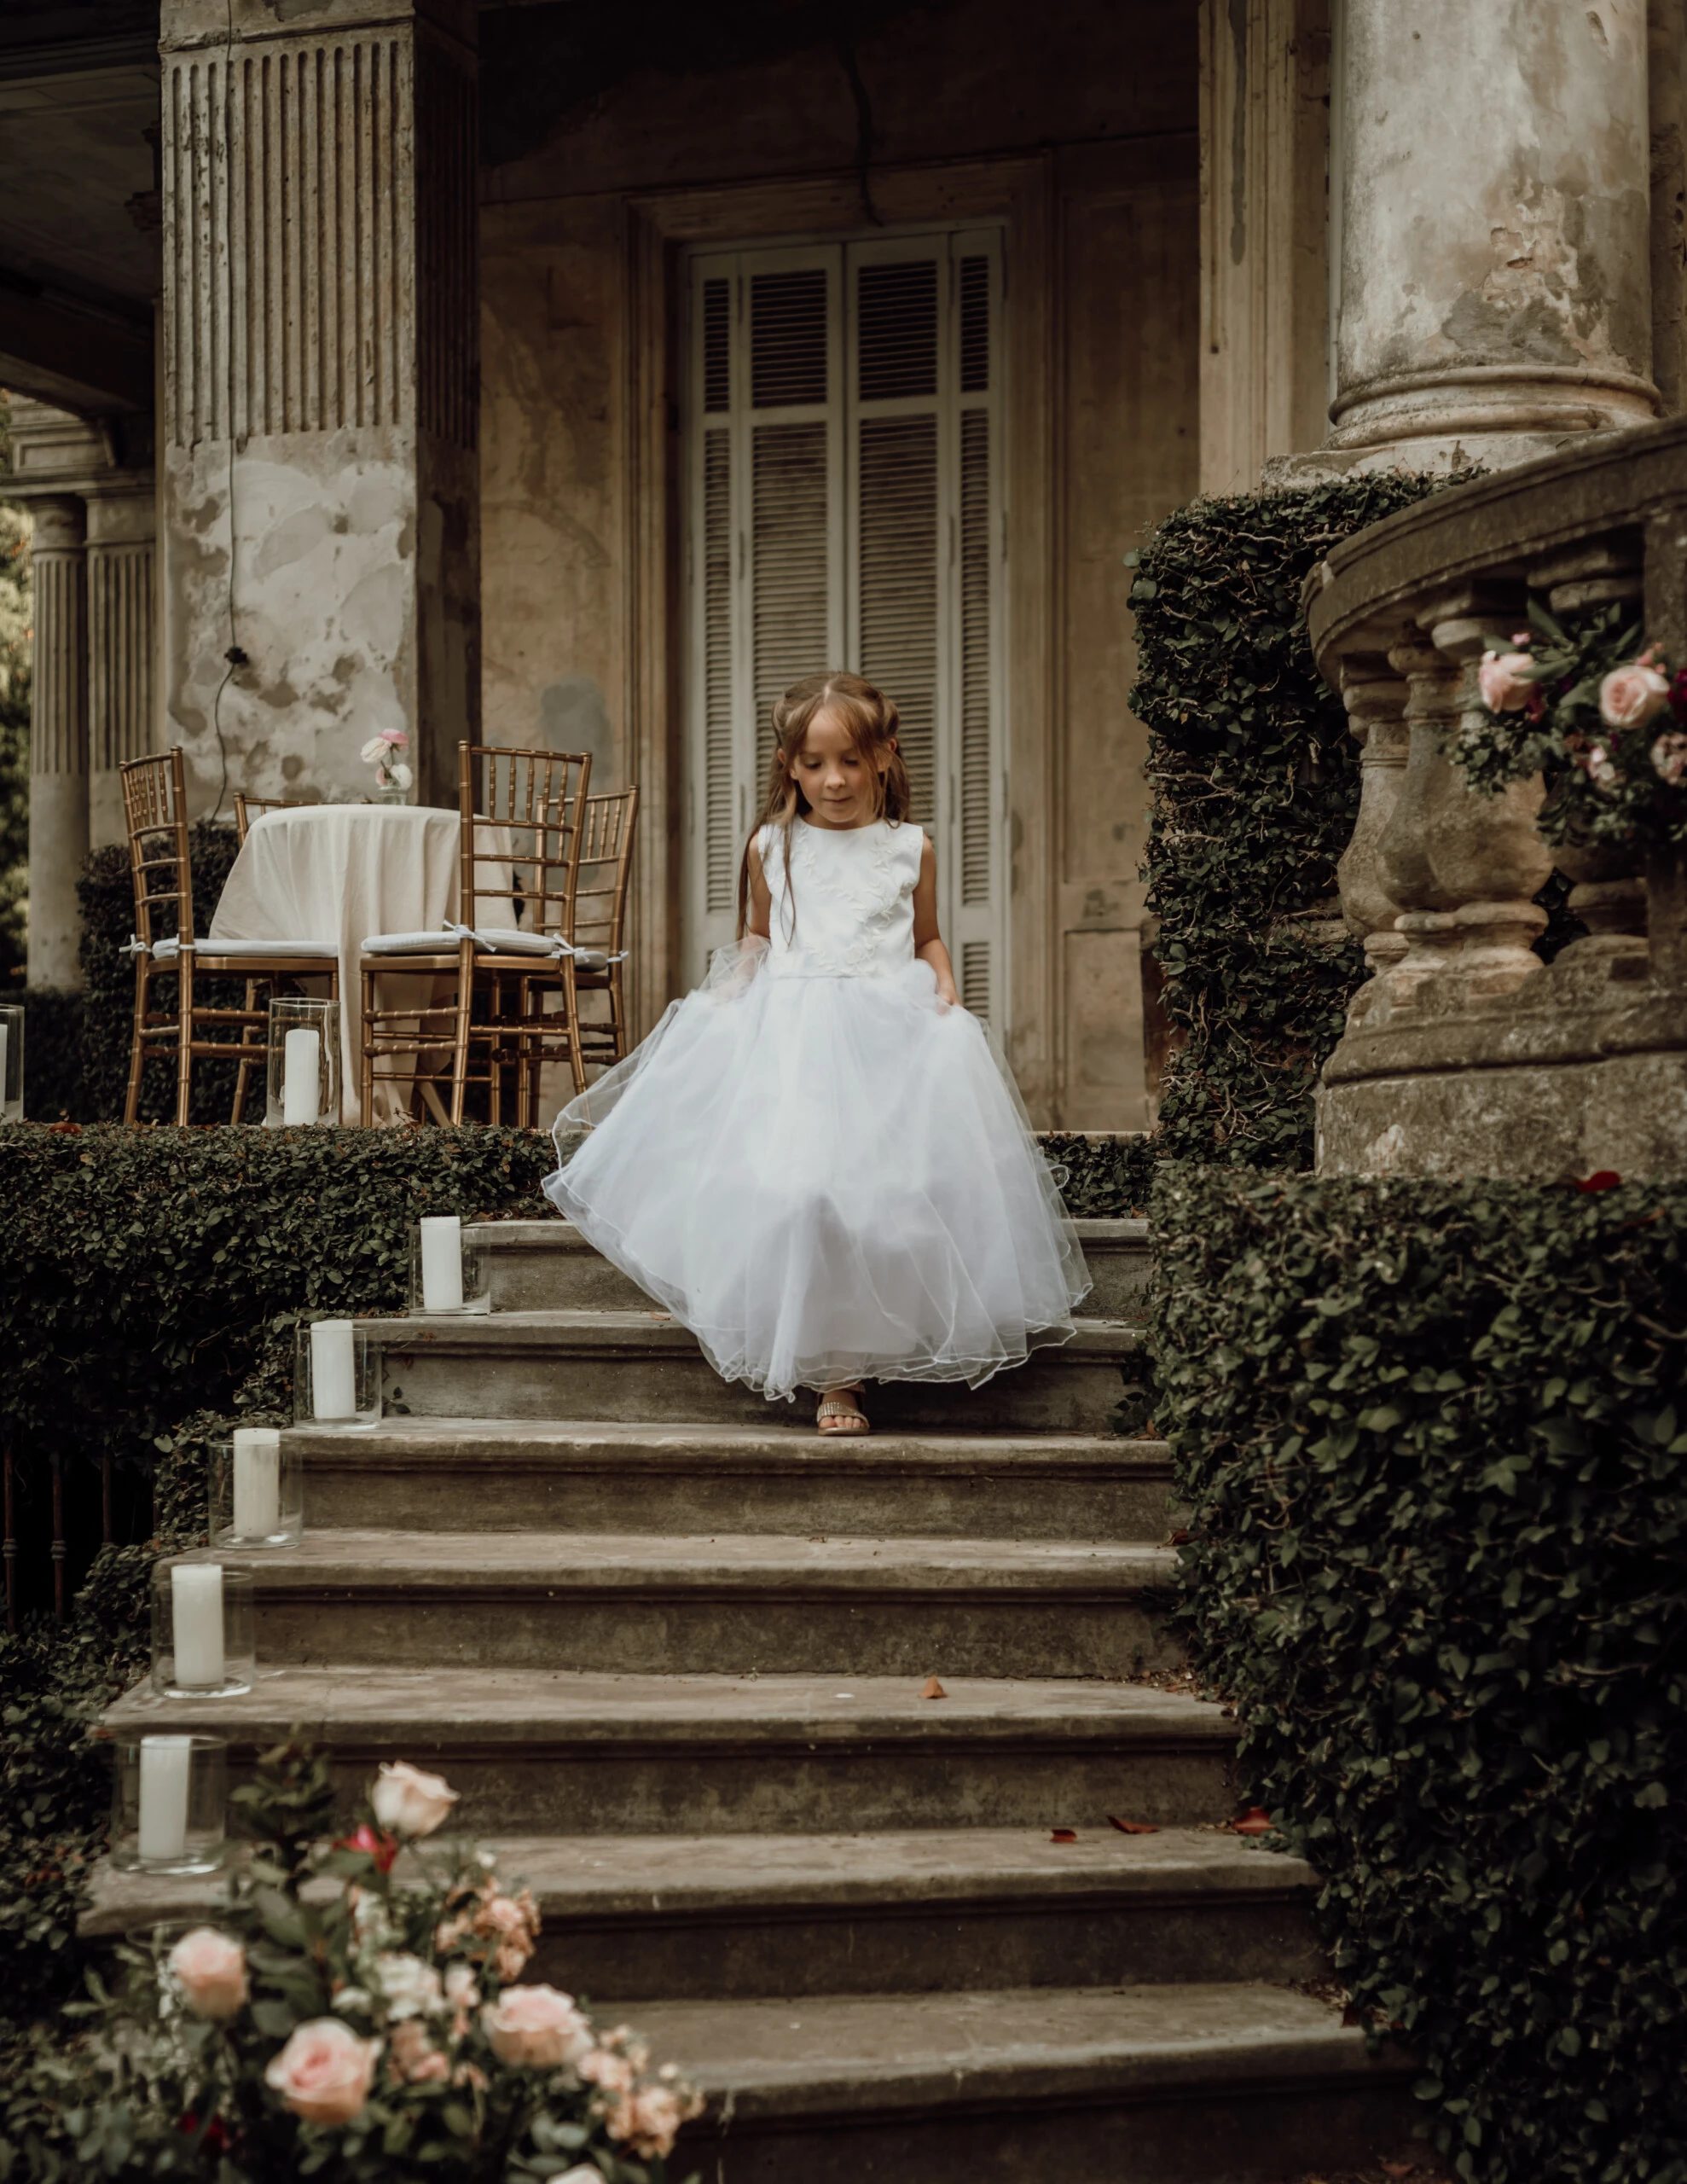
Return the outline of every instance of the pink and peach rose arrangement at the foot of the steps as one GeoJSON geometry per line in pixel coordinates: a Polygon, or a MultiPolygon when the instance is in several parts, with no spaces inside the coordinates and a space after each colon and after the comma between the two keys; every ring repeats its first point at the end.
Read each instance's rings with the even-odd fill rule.
{"type": "Polygon", "coordinates": [[[79,2005],[105,2079],[76,2086],[79,2175],[661,2184],[698,2097],[522,1981],[533,1898],[467,1841],[423,1848],[456,1791],[384,1765],[325,1841],[327,1765],[290,1743],[234,1802],[258,1848],[216,1924],[127,1944],[124,1985],[79,2005]]]}

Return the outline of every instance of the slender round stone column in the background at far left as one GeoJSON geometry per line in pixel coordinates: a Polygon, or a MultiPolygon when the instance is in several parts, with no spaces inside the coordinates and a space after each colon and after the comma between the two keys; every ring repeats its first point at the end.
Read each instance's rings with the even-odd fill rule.
{"type": "Polygon", "coordinates": [[[83,502],[33,500],[35,668],[28,749],[28,983],[81,985],[76,874],[87,856],[87,566],[83,502]]]}

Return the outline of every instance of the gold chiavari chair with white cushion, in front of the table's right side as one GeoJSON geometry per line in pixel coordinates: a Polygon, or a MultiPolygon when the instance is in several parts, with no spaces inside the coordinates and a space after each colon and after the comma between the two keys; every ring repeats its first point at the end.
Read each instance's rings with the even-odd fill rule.
{"type": "Polygon", "coordinates": [[[500,1123],[504,1072],[513,1068],[515,1120],[530,1125],[546,1059],[565,1057],[585,1088],[572,946],[591,753],[487,743],[458,743],[456,753],[460,922],[364,939],[362,1109],[373,1114],[378,1081],[408,1085],[428,1057],[450,1048],[452,1123],[463,1120],[471,1083],[487,1085],[489,1120],[500,1123]],[[399,981],[412,998],[393,998],[399,981]],[[548,1000],[559,1007],[548,1009],[548,1000]],[[471,1068],[478,1055],[480,1070],[471,1068]]]}

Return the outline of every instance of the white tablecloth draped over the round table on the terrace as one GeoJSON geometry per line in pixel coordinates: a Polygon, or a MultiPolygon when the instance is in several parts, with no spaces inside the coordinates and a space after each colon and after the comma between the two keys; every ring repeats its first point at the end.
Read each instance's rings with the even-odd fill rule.
{"type": "MultiPolygon", "coordinates": [[[[491,828],[484,832],[493,834],[491,828]]],[[[476,828],[476,839],[480,834],[476,828]]],[[[493,841],[480,841],[480,847],[493,847],[493,841]]],[[[216,904],[210,939],[336,943],[340,1118],[356,1123],[362,1072],[358,957],[364,935],[428,933],[443,928],[456,913],[456,812],[417,804],[301,804],[297,810],[253,819],[216,904]]],[[[482,922],[491,922],[484,902],[482,922]]],[[[498,922],[513,924],[513,909],[506,906],[498,922]]],[[[408,992],[415,994],[415,983],[408,992]]],[[[371,1123],[393,1120],[402,1107],[402,1085],[375,1083],[371,1123]]]]}

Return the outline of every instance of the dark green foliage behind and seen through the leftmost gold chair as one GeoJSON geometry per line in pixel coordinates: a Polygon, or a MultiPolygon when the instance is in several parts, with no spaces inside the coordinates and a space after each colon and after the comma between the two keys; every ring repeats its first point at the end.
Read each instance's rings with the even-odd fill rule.
{"type": "MultiPolygon", "coordinates": [[[[231,826],[212,826],[201,819],[188,834],[194,867],[194,930],[205,935],[216,911],[223,882],[238,856],[231,826]]],[[[124,954],[124,943],[135,930],[135,885],[129,874],[129,847],[111,843],[96,850],[83,865],[76,880],[76,900],[83,909],[83,937],[79,961],[85,985],[83,1013],[83,1085],[72,1120],[116,1123],[122,1118],[122,1101],[129,1088],[129,1040],[135,1026],[135,963],[124,954]]],[[[175,933],[172,915],[157,915],[153,937],[168,939],[175,933]]],[[[155,1007],[175,1007],[175,978],[159,983],[155,1007]]],[[[212,1009],[240,1009],[244,1005],[244,981],[238,978],[194,978],[194,996],[212,1009]]],[[[234,1112],[234,1061],[196,1061],[192,1116],[194,1123],[227,1123],[234,1112]]],[[[175,1064],[153,1059],[146,1064],[142,1081],[142,1123],[175,1120],[175,1064]]],[[[255,1101],[262,1092],[247,1094],[249,1114],[262,1120],[255,1101]]],[[[41,1114],[28,1101],[31,1114],[41,1114]]]]}

